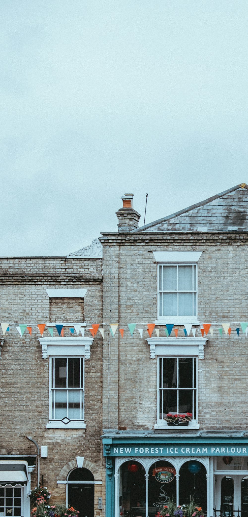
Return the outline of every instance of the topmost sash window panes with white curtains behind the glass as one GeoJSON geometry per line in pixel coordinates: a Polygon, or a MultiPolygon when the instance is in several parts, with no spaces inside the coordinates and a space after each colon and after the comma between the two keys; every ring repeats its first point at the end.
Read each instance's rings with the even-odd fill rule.
{"type": "Polygon", "coordinates": [[[158,317],[163,316],[196,318],[196,264],[158,264],[158,317]]]}

